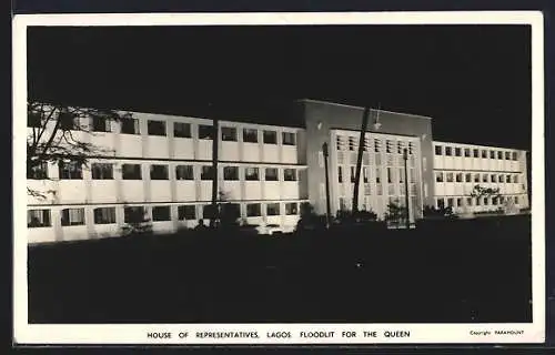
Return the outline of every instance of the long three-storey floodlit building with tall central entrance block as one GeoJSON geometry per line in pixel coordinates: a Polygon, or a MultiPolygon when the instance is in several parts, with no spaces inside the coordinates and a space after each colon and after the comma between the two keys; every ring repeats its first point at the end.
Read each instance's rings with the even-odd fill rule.
{"type": "MultiPolygon", "coordinates": [[[[332,213],[351,209],[362,113],[301,100],[287,120],[294,126],[219,121],[220,197],[248,224],[293,230],[303,202],[326,212],[326,143],[332,213]]],[[[47,196],[28,196],[29,243],[119,235],[137,212],[154,232],[208,223],[213,120],[140,112],[118,121],[78,120],[75,128],[84,124],[93,133],[75,130],[73,136],[102,153],[87,166],[44,162],[29,173],[28,187],[47,196]]],[[[528,206],[524,151],[434,142],[430,118],[371,110],[363,151],[360,206],[380,217],[390,203],[405,205],[406,189],[413,221],[426,205],[478,212],[505,203],[472,197],[477,174],[481,186],[498,186],[513,205],[528,206]]]]}

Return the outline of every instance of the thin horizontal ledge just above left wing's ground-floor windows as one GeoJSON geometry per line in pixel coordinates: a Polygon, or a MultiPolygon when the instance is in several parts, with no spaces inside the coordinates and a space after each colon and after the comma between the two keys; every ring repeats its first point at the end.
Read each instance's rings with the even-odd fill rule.
{"type": "MultiPolygon", "coordinates": [[[[289,203],[289,202],[307,202],[309,199],[282,199],[282,200],[225,200],[218,201],[219,204],[225,203],[289,203]]],[[[98,203],[59,203],[59,204],[28,204],[28,207],[63,207],[63,206],[115,206],[115,205],[196,205],[211,204],[211,200],[201,201],[155,201],[155,202],[98,202],[98,203]]]]}

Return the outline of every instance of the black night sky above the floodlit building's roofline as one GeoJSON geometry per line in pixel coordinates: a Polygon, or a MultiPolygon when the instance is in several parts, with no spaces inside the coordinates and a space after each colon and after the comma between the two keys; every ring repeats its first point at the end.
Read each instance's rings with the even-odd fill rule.
{"type": "Polygon", "coordinates": [[[41,101],[293,124],[296,99],[433,118],[435,140],[531,149],[525,26],[31,28],[41,101]]]}

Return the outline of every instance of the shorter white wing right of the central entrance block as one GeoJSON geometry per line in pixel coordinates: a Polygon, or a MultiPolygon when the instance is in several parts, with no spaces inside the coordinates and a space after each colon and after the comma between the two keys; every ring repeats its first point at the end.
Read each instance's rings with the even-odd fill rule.
{"type": "Polygon", "coordinates": [[[458,214],[529,207],[526,151],[434,142],[435,206],[458,214]],[[475,186],[498,191],[476,194],[475,186]]]}

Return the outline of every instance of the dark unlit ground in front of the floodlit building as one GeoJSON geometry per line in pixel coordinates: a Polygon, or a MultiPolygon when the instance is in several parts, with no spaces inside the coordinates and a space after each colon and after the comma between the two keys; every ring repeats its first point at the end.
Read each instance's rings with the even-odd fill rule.
{"type": "Polygon", "coordinates": [[[529,239],[512,216],[30,247],[29,322],[531,322],[529,239]]]}

